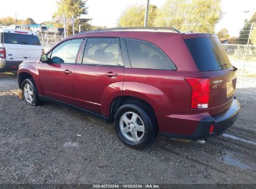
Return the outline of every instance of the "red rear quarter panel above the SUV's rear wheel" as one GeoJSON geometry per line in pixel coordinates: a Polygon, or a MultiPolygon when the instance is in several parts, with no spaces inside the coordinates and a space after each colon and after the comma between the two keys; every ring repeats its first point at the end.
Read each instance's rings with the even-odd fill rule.
{"type": "Polygon", "coordinates": [[[123,95],[146,99],[156,114],[187,113],[190,88],[184,71],[125,68],[123,95]]]}

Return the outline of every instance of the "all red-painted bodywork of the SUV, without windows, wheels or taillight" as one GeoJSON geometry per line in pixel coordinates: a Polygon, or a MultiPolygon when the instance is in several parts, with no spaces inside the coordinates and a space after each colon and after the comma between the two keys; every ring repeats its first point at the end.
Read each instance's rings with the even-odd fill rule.
{"type": "Polygon", "coordinates": [[[154,110],[159,132],[191,135],[199,122],[229,109],[234,93],[227,95],[227,81],[235,87],[235,71],[199,71],[184,39],[214,37],[213,34],[111,31],[89,32],[67,38],[126,37],[151,42],[161,48],[177,70],[105,67],[82,64],[22,63],[19,73],[29,73],[42,96],[110,117],[113,99],[132,96],[154,110]],[[65,74],[65,70],[72,73],[65,74]],[[117,76],[107,76],[116,73],[117,76]],[[191,109],[191,87],[184,77],[210,78],[209,108],[191,109]],[[214,84],[215,80],[222,83],[214,84]]]}

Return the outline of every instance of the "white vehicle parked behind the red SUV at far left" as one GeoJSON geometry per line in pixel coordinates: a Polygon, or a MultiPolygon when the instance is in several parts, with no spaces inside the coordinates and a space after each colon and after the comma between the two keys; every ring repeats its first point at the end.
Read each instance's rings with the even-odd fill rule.
{"type": "Polygon", "coordinates": [[[0,28],[0,72],[17,71],[24,60],[40,58],[42,46],[29,30],[0,28]]]}

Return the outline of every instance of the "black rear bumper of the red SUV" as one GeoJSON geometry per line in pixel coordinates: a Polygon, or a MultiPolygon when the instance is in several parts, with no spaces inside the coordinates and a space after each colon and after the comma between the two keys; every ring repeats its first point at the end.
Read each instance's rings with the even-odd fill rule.
{"type": "MultiPolygon", "coordinates": [[[[196,129],[194,129],[194,132],[192,132],[192,134],[171,134],[168,132],[160,132],[160,134],[166,137],[191,140],[207,139],[209,137],[219,136],[234,125],[239,114],[239,110],[240,103],[237,99],[234,98],[232,100],[230,108],[221,114],[218,114],[216,116],[206,116],[204,114],[203,118],[199,120],[196,120],[197,118],[200,118],[200,116],[198,115],[190,117],[190,121],[192,123],[194,123],[195,121],[197,122],[196,129]],[[212,125],[214,126],[214,130],[212,133],[210,133],[210,126],[212,125]]],[[[189,120],[186,119],[186,123],[187,121],[189,120]]]]}

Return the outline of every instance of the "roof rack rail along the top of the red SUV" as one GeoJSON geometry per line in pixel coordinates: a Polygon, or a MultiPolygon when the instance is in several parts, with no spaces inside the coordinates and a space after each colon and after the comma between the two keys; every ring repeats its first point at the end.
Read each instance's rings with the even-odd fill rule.
{"type": "Polygon", "coordinates": [[[85,32],[80,32],[76,35],[87,34],[91,32],[118,32],[118,31],[146,31],[146,32],[170,32],[170,33],[180,33],[178,29],[172,27],[116,27],[109,29],[97,29],[97,30],[87,30],[85,32]]]}

